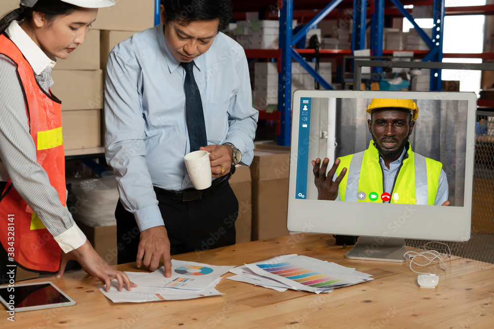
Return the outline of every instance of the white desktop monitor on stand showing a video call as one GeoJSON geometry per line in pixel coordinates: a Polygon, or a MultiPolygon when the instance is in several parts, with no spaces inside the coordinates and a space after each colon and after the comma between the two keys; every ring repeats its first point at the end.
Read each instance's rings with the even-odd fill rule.
{"type": "MultiPolygon", "coordinates": [[[[390,261],[406,261],[403,257],[405,238],[469,240],[476,107],[474,93],[295,91],[288,230],[307,231],[310,227],[313,233],[360,236],[359,243],[346,257],[390,261]],[[410,144],[403,142],[409,147],[400,154],[401,160],[384,164],[386,169],[389,165],[389,170],[393,166],[398,170],[395,181],[380,181],[389,181],[389,173],[376,162],[376,157],[378,154],[382,161],[381,151],[386,152],[387,147],[392,148],[400,139],[391,136],[395,132],[372,136],[368,123],[371,115],[367,109],[371,106],[371,110],[372,107],[378,109],[375,113],[385,112],[376,106],[379,102],[372,105],[372,100],[388,105],[401,102],[396,100],[410,100],[403,104],[418,107],[410,144]],[[380,151],[373,146],[374,139],[382,146],[380,151]],[[320,158],[322,161],[325,157],[329,158],[327,173],[335,159],[341,159],[338,168],[347,167],[346,180],[337,186],[335,199],[319,200],[312,160],[320,158]],[[383,184],[392,190],[381,199],[383,184]],[[437,205],[438,202],[443,204],[445,198],[449,206],[437,205]]],[[[380,122],[375,124],[389,125],[389,120],[383,120],[382,115],[376,117],[380,122]]],[[[326,180],[333,182],[335,176],[326,180]]],[[[325,194],[323,190],[322,194],[327,197],[330,193],[325,194]]]]}

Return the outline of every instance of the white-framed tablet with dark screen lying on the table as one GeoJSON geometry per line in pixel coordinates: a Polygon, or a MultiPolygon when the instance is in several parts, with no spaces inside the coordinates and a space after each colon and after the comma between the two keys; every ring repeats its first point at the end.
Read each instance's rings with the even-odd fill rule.
{"type": "Polygon", "coordinates": [[[8,311],[22,312],[72,306],[77,303],[51,282],[14,284],[0,287],[0,302],[8,311]]]}

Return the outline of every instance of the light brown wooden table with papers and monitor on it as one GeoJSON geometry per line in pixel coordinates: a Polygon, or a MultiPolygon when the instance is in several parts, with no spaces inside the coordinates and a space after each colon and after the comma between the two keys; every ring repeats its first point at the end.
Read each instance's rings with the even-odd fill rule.
{"type": "MultiPolygon", "coordinates": [[[[216,287],[220,296],[115,304],[98,290],[99,281],[81,270],[26,281],[52,281],[76,306],[16,313],[15,324],[2,313],[0,328],[494,328],[493,264],[447,258],[446,271],[428,268],[440,275],[438,287],[429,290],[419,288],[408,263],[350,260],[343,257],[346,251],[328,235],[300,233],[174,258],[241,265],[299,254],[355,267],[375,280],[317,295],[223,279],[216,287]]],[[[115,267],[138,271],[133,263],[115,267]]]]}

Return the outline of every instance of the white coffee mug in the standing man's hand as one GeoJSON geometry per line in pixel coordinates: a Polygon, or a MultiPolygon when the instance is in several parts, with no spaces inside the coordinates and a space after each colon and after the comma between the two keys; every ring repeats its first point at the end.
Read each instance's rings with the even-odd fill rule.
{"type": "Polygon", "coordinates": [[[184,160],[192,184],[194,184],[196,189],[206,189],[211,186],[211,164],[207,151],[199,150],[190,152],[184,156],[184,160]]]}

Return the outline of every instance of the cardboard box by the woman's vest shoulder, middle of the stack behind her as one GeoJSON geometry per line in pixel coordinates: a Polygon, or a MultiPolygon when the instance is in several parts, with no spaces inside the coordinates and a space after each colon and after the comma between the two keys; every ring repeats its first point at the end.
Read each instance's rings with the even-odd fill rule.
{"type": "Polygon", "coordinates": [[[62,110],[103,108],[103,71],[56,70],[52,77],[51,90],[62,101],[62,110]]]}

